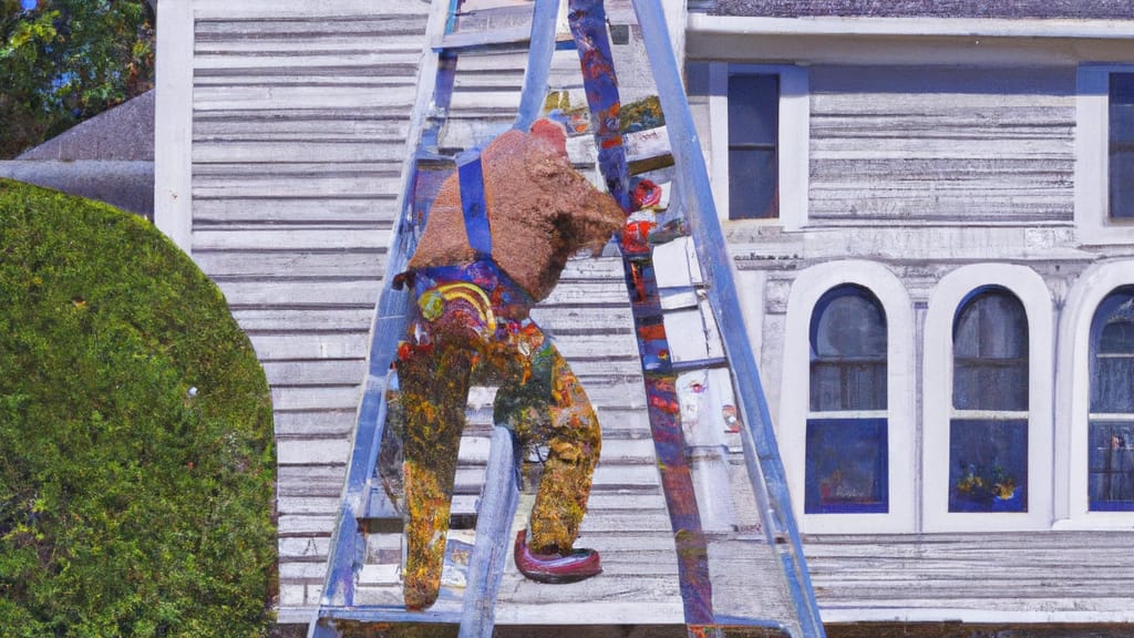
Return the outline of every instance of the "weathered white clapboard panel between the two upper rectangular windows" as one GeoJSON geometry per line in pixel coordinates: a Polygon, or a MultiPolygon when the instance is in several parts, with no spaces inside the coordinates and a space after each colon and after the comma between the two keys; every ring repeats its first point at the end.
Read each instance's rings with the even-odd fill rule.
{"type": "Polygon", "coordinates": [[[1068,221],[1070,70],[814,67],[813,221],[1068,221]]]}

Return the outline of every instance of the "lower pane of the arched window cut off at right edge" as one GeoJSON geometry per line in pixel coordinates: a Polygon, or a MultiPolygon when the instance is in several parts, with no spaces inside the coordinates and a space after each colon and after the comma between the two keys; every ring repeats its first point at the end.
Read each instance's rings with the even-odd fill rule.
{"type": "Polygon", "coordinates": [[[1134,511],[1134,423],[1091,421],[1088,454],[1091,511],[1134,511]]]}

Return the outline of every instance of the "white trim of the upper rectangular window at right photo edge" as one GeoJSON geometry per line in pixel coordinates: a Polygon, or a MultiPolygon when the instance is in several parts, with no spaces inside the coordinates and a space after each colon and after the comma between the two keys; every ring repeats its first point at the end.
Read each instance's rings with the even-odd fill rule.
{"type": "Polygon", "coordinates": [[[1134,223],[1110,221],[1110,74],[1134,65],[1082,65],[1075,83],[1075,227],[1084,244],[1134,243],[1134,223]]]}

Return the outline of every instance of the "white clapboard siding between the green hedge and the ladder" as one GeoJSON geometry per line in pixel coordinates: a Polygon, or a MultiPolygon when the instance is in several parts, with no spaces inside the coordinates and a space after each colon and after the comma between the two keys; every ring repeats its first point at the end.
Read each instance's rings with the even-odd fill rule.
{"type": "Polygon", "coordinates": [[[323,585],[429,3],[194,8],[193,255],[271,386],[284,618],[323,585]]]}

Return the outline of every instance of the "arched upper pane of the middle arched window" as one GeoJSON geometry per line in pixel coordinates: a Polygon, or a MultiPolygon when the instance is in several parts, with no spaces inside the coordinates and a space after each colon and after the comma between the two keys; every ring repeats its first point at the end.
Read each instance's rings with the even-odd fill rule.
{"type": "Polygon", "coordinates": [[[1027,314],[1002,288],[988,288],[957,313],[953,330],[953,405],[1027,410],[1027,314]]]}

